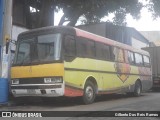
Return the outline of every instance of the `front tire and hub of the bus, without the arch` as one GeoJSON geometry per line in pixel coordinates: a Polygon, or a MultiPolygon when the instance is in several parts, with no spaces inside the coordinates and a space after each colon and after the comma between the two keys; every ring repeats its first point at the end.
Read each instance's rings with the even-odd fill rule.
{"type": "Polygon", "coordinates": [[[96,88],[91,81],[87,81],[83,92],[83,102],[85,104],[91,104],[94,102],[96,97],[96,88]]]}

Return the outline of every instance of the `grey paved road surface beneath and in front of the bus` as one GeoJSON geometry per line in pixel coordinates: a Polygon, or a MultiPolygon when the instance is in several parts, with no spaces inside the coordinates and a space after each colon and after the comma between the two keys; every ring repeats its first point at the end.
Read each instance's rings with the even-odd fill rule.
{"type": "MultiPolygon", "coordinates": [[[[90,111],[87,116],[94,116],[99,112],[92,111],[160,111],[160,92],[143,93],[140,97],[128,97],[126,95],[106,95],[98,97],[95,103],[83,105],[76,99],[61,99],[57,101],[42,102],[40,99],[22,104],[0,106],[2,111],[90,111]]],[[[53,118],[45,118],[50,120],[53,118]]],[[[60,117],[55,119],[61,120],[60,117]]],[[[66,117],[67,120],[85,120],[84,117],[66,117]]],[[[156,117],[107,117],[107,120],[158,120],[156,117]]],[[[14,119],[13,119],[14,120],[14,119]]],[[[16,120],[16,119],[15,119],[16,120]]],[[[24,119],[25,120],[25,119],[24,119]]],[[[106,117],[89,117],[87,120],[106,120],[106,117]]]]}

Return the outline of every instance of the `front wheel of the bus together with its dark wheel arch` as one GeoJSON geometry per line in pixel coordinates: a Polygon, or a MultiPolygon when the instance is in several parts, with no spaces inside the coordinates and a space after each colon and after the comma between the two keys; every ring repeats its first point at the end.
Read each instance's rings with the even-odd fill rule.
{"type": "Polygon", "coordinates": [[[94,102],[97,94],[97,82],[94,77],[88,77],[85,85],[84,85],[84,91],[83,91],[83,102],[85,104],[91,104],[94,102]]]}

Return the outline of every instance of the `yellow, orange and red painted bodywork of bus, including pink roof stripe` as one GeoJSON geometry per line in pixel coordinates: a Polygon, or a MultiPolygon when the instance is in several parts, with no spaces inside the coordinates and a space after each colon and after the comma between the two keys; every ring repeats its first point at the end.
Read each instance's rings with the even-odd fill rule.
{"type": "MultiPolygon", "coordinates": [[[[120,46],[120,48],[123,48],[124,50],[133,51],[135,53],[138,52],[138,50],[132,50],[132,48],[127,45],[123,45],[121,43],[117,43],[115,41],[111,41],[109,39],[93,35],[81,30],[75,30],[78,31],[76,33],[77,36],[88,37],[90,39],[100,42],[104,41],[105,44],[109,44],[114,47],[120,46]]],[[[146,52],[142,52],[142,55],[143,54],[148,56],[146,52]]],[[[142,83],[142,90],[148,90],[152,86],[150,67],[136,66],[125,62],[120,63],[116,61],[107,61],[87,57],[77,56],[71,61],[64,60],[61,63],[54,62],[27,66],[13,66],[11,68],[11,79],[13,81],[15,79],[26,79],[26,81],[27,79],[34,78],[45,79],[55,76],[61,76],[63,78],[63,83],[58,84],[59,91],[56,87],[49,89],[40,87],[37,88],[37,96],[52,97],[54,96],[55,92],[58,93],[55,96],[83,96],[85,84],[88,80],[91,80],[96,86],[96,94],[133,92],[135,82],[137,80],[142,83]],[[48,90],[49,95],[41,94],[43,90],[48,90]]],[[[27,87],[29,85],[27,85],[27,87]]],[[[16,88],[11,89],[12,93],[15,93],[16,90],[18,91],[18,89],[19,92],[21,92],[21,90],[23,89],[23,87],[18,88],[18,85],[12,85],[12,87],[16,88]]],[[[36,94],[27,94],[27,92],[25,92],[25,95],[19,94],[19,96],[35,95],[36,94]]]]}

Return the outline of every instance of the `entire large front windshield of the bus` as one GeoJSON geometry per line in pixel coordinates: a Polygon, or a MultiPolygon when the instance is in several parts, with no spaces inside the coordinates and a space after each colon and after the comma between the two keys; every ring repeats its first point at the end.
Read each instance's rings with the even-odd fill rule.
{"type": "Polygon", "coordinates": [[[61,34],[23,38],[18,42],[13,65],[48,63],[60,60],[61,34]]]}

